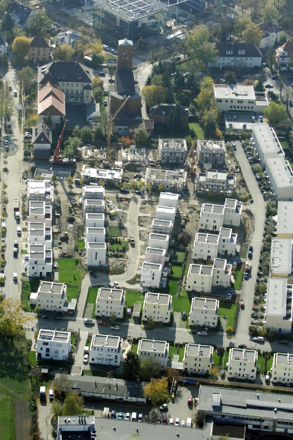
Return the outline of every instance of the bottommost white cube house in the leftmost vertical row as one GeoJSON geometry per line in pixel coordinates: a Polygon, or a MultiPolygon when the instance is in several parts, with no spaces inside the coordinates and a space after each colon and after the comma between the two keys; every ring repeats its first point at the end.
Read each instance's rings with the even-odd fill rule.
{"type": "Polygon", "coordinates": [[[52,277],[52,249],[29,244],[29,277],[52,277]]]}

